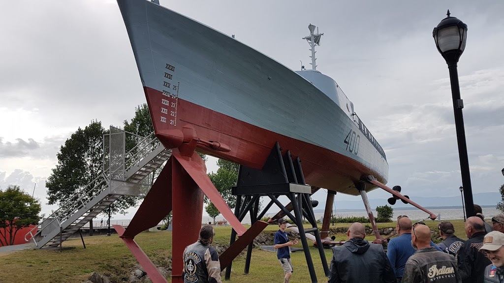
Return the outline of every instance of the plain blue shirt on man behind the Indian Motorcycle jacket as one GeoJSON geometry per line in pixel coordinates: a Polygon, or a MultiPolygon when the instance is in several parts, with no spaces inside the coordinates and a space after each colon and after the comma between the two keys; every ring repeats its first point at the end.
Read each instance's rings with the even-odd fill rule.
{"type": "MultiPolygon", "coordinates": [[[[432,241],[430,246],[435,247],[438,251],[442,251],[432,241]]],[[[402,277],[404,273],[404,266],[408,258],[412,256],[416,250],[411,245],[411,233],[404,233],[403,235],[391,239],[387,248],[387,256],[389,257],[390,264],[396,273],[396,277],[402,277]]]]}

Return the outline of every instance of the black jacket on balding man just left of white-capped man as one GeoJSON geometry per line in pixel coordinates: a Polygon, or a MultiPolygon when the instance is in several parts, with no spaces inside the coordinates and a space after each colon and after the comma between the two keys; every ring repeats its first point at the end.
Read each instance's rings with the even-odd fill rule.
{"type": "Polygon", "coordinates": [[[483,246],[484,237],[485,232],[474,234],[464,242],[457,253],[462,283],[483,283],[485,267],[491,263],[486,254],[478,251],[483,246]]]}

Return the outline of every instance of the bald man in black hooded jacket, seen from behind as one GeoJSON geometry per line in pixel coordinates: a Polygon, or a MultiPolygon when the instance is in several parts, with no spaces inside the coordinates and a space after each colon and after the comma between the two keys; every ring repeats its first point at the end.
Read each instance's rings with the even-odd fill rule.
{"type": "Polygon", "coordinates": [[[342,246],[333,248],[328,283],[366,282],[395,283],[396,276],[382,245],[369,244],[364,226],[354,223],[348,228],[342,246]]]}

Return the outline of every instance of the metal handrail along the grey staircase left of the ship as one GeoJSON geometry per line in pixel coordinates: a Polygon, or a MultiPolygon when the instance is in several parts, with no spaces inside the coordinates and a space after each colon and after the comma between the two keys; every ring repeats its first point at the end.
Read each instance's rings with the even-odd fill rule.
{"type": "MultiPolygon", "coordinates": [[[[128,153],[125,154],[125,156],[131,155],[131,157],[128,159],[128,161],[134,160],[134,164],[131,164],[131,166],[129,166],[128,169],[125,169],[124,173],[128,172],[131,168],[133,168],[133,166],[138,164],[138,162],[140,162],[140,160],[142,160],[145,156],[147,156],[150,152],[152,152],[153,149],[155,149],[159,146],[159,144],[160,144],[159,140],[157,138],[152,138],[152,137],[155,137],[154,132],[150,133],[148,136],[146,136],[144,139],[142,139],[135,147],[133,147],[128,153]],[[149,142],[147,144],[145,144],[144,147],[142,147],[144,145],[144,142],[148,139],[150,139],[149,142]],[[134,158],[136,158],[136,159],[134,159],[134,158]]],[[[117,160],[114,163],[112,163],[110,166],[113,166],[121,161],[122,160],[117,160]]],[[[126,163],[127,161],[124,160],[123,162],[126,163]]],[[[109,166],[109,169],[110,169],[110,166],[109,166]]],[[[30,230],[24,237],[25,241],[28,242],[30,240],[33,240],[35,242],[35,245],[37,245],[37,243],[35,241],[35,236],[40,234],[45,227],[49,226],[54,221],[57,221],[58,226],[61,226],[61,223],[64,223],[65,221],[67,221],[74,213],[76,213],[76,211],[80,210],[83,206],[85,206],[85,204],[89,200],[93,199],[96,195],[103,192],[109,186],[110,176],[113,173],[115,173],[118,169],[116,169],[114,172],[110,172],[109,174],[106,174],[105,170],[104,170],[104,172],[99,174],[99,176],[96,177],[95,179],[93,179],[88,185],[84,186],[82,189],[77,191],[71,198],[69,198],[67,201],[62,203],[60,205],[60,207],[58,209],[56,209],[48,217],[48,218],[52,218],[52,221],[50,221],[49,223],[47,223],[44,226],[40,225],[41,228],[39,231],[37,231],[37,233],[35,233],[35,235],[33,235],[33,232],[35,229],[38,228],[38,226],[34,227],[32,230],[30,230]],[[101,181],[99,181],[100,178],[102,178],[101,181]],[[88,191],[85,191],[88,187],[90,187],[92,184],[95,184],[96,182],[98,182],[98,183],[95,186],[93,186],[88,191]],[[86,202],[84,200],[86,200],[86,202]],[[31,236],[31,238],[27,239],[27,236],[31,236]]],[[[108,171],[108,170],[106,170],[106,171],[108,171]]]]}

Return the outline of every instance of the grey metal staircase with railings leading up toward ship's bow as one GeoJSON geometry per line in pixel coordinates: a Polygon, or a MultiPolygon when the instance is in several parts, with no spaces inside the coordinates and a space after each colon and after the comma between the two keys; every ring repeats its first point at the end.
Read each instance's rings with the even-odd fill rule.
{"type": "Polygon", "coordinates": [[[121,168],[119,172],[101,172],[42,222],[37,233],[33,234],[36,228],[28,232],[25,241],[33,241],[39,249],[57,248],[121,195],[131,195],[121,190],[137,190],[141,181],[170,157],[171,150],[165,149],[151,133],[126,153],[125,158],[116,161],[121,163],[119,166],[110,164],[109,168],[121,168]],[[36,238],[41,239],[36,241],[36,238]]]}

